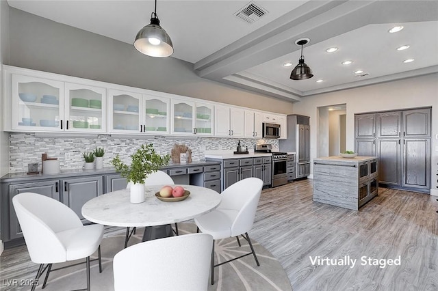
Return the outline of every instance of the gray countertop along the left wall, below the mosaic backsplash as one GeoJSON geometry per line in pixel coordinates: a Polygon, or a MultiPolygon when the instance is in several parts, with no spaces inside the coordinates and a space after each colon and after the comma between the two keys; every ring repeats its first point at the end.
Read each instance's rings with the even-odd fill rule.
{"type": "MultiPolygon", "coordinates": [[[[162,169],[174,169],[179,167],[196,167],[205,165],[220,165],[219,162],[215,161],[192,161],[192,163],[172,163],[170,162],[166,167],[162,169]]],[[[105,175],[105,174],[117,174],[114,167],[104,167],[103,169],[62,169],[60,173],[57,174],[32,174],[28,175],[24,172],[10,173],[0,178],[0,182],[19,182],[21,180],[42,180],[42,179],[59,179],[59,178],[71,178],[71,176],[90,176],[90,175],[105,175]]]]}

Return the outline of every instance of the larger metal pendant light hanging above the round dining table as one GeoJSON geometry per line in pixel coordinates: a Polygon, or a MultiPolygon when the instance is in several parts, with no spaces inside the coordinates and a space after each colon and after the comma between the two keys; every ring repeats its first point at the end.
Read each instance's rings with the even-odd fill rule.
{"type": "Polygon", "coordinates": [[[157,0],[155,0],[155,12],[151,14],[151,24],[138,31],[134,47],[140,53],[151,57],[168,57],[173,53],[170,36],[159,26],[157,0]]]}

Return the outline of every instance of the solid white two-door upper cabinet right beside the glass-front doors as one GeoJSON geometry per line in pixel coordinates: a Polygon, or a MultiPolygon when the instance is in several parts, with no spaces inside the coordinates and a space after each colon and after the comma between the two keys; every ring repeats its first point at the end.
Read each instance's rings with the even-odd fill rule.
{"type": "Polygon", "coordinates": [[[215,136],[244,137],[244,109],[228,106],[215,106],[215,136]]]}

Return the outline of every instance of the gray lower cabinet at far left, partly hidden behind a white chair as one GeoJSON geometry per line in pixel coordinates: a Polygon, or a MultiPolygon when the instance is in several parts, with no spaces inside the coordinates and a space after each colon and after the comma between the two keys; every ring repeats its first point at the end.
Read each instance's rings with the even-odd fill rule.
{"type": "MultiPolygon", "coordinates": [[[[23,184],[11,184],[9,185],[9,209],[2,208],[2,233],[5,229],[9,228],[9,238],[13,240],[15,238],[23,237],[23,233],[21,232],[20,224],[18,223],[18,219],[16,217],[16,213],[14,210],[14,206],[12,205],[12,198],[15,195],[25,192],[33,192],[38,193],[47,197],[51,197],[56,200],[60,200],[60,182],[58,180],[49,180],[44,182],[28,182],[23,184]],[[3,214],[5,212],[9,212],[9,225],[3,225],[7,219],[3,219],[3,214]]],[[[3,199],[3,198],[2,198],[3,199]]],[[[3,204],[3,201],[2,201],[3,204]]],[[[4,204],[3,204],[4,205],[4,204]]]]}

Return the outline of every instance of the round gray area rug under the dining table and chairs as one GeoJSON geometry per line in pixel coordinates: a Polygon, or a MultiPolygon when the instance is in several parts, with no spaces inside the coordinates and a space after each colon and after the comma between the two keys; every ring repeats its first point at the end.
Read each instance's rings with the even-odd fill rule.
{"type": "MultiPolygon", "coordinates": [[[[140,228],[129,240],[129,245],[140,243],[142,232],[143,228],[140,228]]],[[[192,223],[179,223],[180,235],[194,232],[196,232],[196,225],[192,223]]],[[[105,236],[107,237],[105,237],[101,243],[103,272],[99,273],[97,260],[91,262],[91,290],[93,291],[114,290],[112,259],[118,251],[123,249],[125,242],[125,233],[121,228],[106,233],[105,236]]],[[[248,255],[239,260],[218,266],[215,268],[215,283],[213,286],[209,283],[208,290],[292,290],[287,274],[279,261],[255,240],[251,241],[257,253],[260,266],[257,266],[255,263],[253,255],[248,255]]],[[[235,238],[217,240],[215,245],[216,263],[224,262],[224,260],[235,258],[242,255],[242,253],[250,251],[248,243],[244,238],[240,239],[240,243],[242,243],[242,247],[237,245],[235,238]]],[[[27,249],[24,247],[23,251],[27,252],[27,249]]],[[[3,281],[3,283],[0,286],[0,290],[30,290],[28,286],[23,286],[23,284],[28,283],[26,280],[34,278],[38,265],[29,260],[27,253],[20,253],[20,260],[25,260],[27,257],[27,260],[19,263],[21,267],[15,265],[8,268],[8,266],[3,264],[14,261],[14,258],[8,255],[8,250],[5,250],[1,257],[1,281],[3,281]],[[5,258],[5,256],[8,256],[8,258],[5,258]],[[17,281],[13,281],[14,279],[17,281]],[[21,284],[22,288],[16,284],[21,284]]],[[[97,255],[95,253],[92,259],[96,258],[97,255]]],[[[60,268],[75,263],[77,262],[54,264],[53,268],[60,268]]],[[[44,290],[63,291],[86,288],[85,268],[85,264],[77,264],[76,266],[70,266],[52,272],[44,290]]],[[[171,276],[171,271],[169,272],[169,276],[171,276]]],[[[36,290],[41,290],[42,280],[44,280],[44,278],[40,280],[40,284],[36,290]]],[[[139,278],[139,280],[142,280],[142,278],[139,278]]],[[[144,286],[147,287],[146,281],[140,283],[144,283],[144,286]]],[[[147,290],[147,288],[145,288],[145,290],[147,290]]]]}

